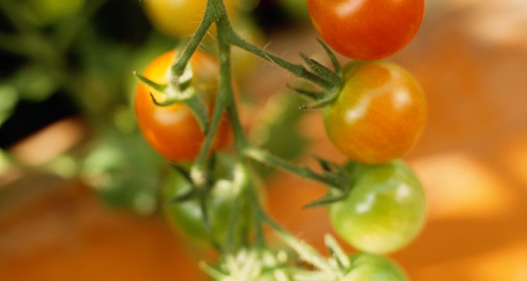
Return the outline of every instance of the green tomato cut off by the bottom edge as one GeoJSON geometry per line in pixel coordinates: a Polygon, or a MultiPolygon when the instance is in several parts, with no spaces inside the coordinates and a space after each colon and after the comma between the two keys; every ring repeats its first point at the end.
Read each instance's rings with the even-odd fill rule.
{"type": "Polygon", "coordinates": [[[350,256],[351,271],[346,281],[407,281],[405,273],[395,263],[374,254],[353,254],[350,256]]]}

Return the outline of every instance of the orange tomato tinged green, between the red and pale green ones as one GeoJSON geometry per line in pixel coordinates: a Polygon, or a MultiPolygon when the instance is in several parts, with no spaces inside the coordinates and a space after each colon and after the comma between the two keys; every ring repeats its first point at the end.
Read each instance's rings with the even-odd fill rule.
{"type": "Polygon", "coordinates": [[[393,63],[355,62],[346,67],[339,97],[324,110],[330,140],[358,162],[401,157],[424,127],[426,103],[417,82],[393,63]]]}

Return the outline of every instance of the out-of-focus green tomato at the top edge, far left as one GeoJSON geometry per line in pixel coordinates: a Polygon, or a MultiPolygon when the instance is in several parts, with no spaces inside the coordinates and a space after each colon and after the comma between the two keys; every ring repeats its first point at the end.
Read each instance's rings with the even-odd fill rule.
{"type": "Polygon", "coordinates": [[[28,0],[22,14],[36,25],[49,25],[80,11],[84,0],[28,0]]]}

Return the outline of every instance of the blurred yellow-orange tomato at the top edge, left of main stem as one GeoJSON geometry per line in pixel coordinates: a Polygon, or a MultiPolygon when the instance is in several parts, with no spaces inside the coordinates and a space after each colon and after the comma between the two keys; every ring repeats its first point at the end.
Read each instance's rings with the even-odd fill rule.
{"type": "MultiPolygon", "coordinates": [[[[172,37],[192,35],[200,26],[207,0],[145,0],[146,15],[152,25],[172,37]]],[[[229,15],[235,11],[233,1],[224,1],[229,15]]]]}

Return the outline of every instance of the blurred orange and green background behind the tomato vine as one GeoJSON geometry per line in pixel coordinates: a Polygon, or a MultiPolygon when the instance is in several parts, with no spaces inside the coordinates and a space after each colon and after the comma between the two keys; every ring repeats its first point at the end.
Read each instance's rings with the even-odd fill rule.
{"type": "MultiPolygon", "coordinates": [[[[0,280],[206,280],[196,264],[210,253],[160,216],[167,163],[131,107],[132,71],[181,41],[152,24],[145,1],[0,1],[0,280]]],[[[304,0],[235,4],[248,40],[293,62],[327,60],[304,0]]],[[[300,112],[285,90],[294,77],[235,51],[254,142],[294,162],[343,161],[320,112],[300,112]]],[[[393,260],[415,281],[527,280],[527,3],[428,0],[419,34],[389,60],[429,106],[405,156],[429,218],[393,260]]],[[[271,214],[324,251],[326,211],[302,206],[326,189],[261,173],[271,214]]]]}

